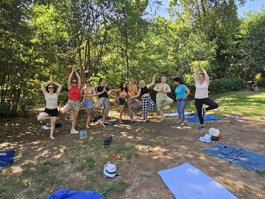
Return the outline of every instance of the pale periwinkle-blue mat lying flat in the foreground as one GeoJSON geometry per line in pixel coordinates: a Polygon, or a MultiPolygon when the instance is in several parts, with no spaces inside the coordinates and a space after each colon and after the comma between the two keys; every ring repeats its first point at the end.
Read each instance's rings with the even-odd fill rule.
{"type": "Polygon", "coordinates": [[[189,163],[158,174],[176,199],[236,199],[225,187],[189,163]]]}

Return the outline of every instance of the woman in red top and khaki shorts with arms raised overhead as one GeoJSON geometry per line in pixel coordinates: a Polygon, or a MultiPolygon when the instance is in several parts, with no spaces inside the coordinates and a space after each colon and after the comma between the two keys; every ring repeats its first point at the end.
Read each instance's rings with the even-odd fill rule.
{"type": "Polygon", "coordinates": [[[67,82],[67,88],[69,92],[68,101],[66,105],[64,105],[62,109],[62,114],[69,115],[70,119],[72,121],[72,127],[71,127],[71,133],[78,133],[78,131],[75,130],[75,124],[77,120],[77,116],[79,113],[79,99],[80,99],[80,87],[81,87],[81,78],[78,75],[77,71],[74,67],[72,67],[72,72],[70,73],[68,77],[67,82]],[[77,76],[77,79],[72,79],[73,74],[77,76]],[[73,109],[73,112],[70,113],[70,110],[73,109]]]}

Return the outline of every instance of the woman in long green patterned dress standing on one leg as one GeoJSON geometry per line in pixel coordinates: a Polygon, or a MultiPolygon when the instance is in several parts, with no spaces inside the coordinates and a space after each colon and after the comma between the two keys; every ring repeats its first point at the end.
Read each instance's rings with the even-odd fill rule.
{"type": "Polygon", "coordinates": [[[163,121],[163,114],[166,109],[170,108],[170,104],[174,102],[173,99],[167,96],[171,92],[170,86],[166,84],[166,76],[161,77],[161,83],[154,87],[154,91],[158,92],[156,97],[157,111],[160,112],[161,120],[163,121]]]}

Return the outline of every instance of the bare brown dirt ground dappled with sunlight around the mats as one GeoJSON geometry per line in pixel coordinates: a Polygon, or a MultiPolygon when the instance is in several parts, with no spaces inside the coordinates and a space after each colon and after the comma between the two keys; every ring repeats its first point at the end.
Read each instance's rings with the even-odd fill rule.
{"type": "MultiPolygon", "coordinates": [[[[197,122],[186,122],[185,126],[181,127],[180,124],[176,124],[178,120],[176,117],[165,117],[164,121],[160,122],[158,113],[148,114],[148,123],[107,125],[105,128],[100,124],[92,124],[87,130],[87,139],[93,139],[93,143],[102,150],[105,150],[102,145],[104,139],[112,135],[112,144],[110,148],[106,149],[109,153],[115,150],[112,147],[119,145],[135,146],[136,148],[142,145],[150,145],[153,147],[153,151],[143,153],[138,150],[132,155],[131,159],[124,157],[122,160],[107,158],[106,155],[105,157],[95,155],[97,160],[95,165],[99,168],[99,171],[102,170],[102,173],[99,173],[91,181],[85,177],[89,172],[76,171],[74,169],[75,163],[71,161],[75,153],[82,154],[82,152],[75,149],[75,146],[77,144],[82,145],[83,141],[79,140],[78,134],[70,134],[69,118],[65,115],[59,115],[57,122],[61,122],[62,127],[55,129],[55,139],[52,140],[49,138],[49,130],[41,129],[41,126],[47,123],[39,123],[36,120],[37,115],[41,111],[41,109],[35,110],[31,117],[1,119],[0,121],[0,152],[16,150],[14,163],[11,166],[0,168],[0,186],[11,174],[15,174],[23,183],[28,183],[26,181],[32,182],[26,188],[11,187],[10,198],[48,198],[50,194],[55,193],[59,188],[77,190],[89,187],[90,183],[92,187],[95,181],[100,181],[101,184],[107,183],[112,179],[103,178],[102,176],[102,161],[106,159],[116,164],[118,174],[125,174],[124,176],[115,177],[115,180],[123,178],[125,182],[130,182],[130,185],[118,196],[110,195],[103,198],[175,198],[163,182],[158,171],[185,163],[200,169],[237,198],[265,198],[264,173],[250,171],[200,151],[208,146],[222,142],[225,145],[265,155],[265,125],[264,120],[260,118],[243,117],[243,120],[236,120],[227,118],[228,115],[223,111],[222,116],[218,116],[222,120],[204,122],[205,129],[203,130],[198,130],[199,123],[197,122]],[[208,129],[211,127],[220,130],[222,139],[211,143],[200,142],[199,137],[208,133],[208,129]],[[156,141],[159,136],[165,139],[156,141]],[[47,184],[39,192],[36,191],[37,185],[34,182],[36,175],[26,177],[23,175],[23,169],[37,167],[40,162],[47,160],[51,162],[55,160],[63,161],[63,164],[59,167],[49,165],[50,167],[48,167],[48,172],[45,175],[60,176],[65,184],[63,187],[47,184]]],[[[94,116],[96,116],[95,114],[94,116]]],[[[209,111],[207,114],[209,115],[211,112],[209,111]]],[[[129,119],[126,117],[127,113],[124,115],[124,119],[129,119]]],[[[110,111],[109,116],[118,118],[117,109],[110,111]]],[[[136,113],[135,119],[141,119],[141,115],[136,113]]],[[[80,114],[76,129],[84,129],[85,121],[86,114],[80,114]]],[[[87,146],[88,149],[93,147],[93,145],[87,146]]],[[[124,154],[118,155],[124,156],[124,154]]],[[[98,192],[98,190],[91,191],[98,192]]],[[[209,194],[211,192],[214,192],[214,190],[209,187],[209,194]]]]}

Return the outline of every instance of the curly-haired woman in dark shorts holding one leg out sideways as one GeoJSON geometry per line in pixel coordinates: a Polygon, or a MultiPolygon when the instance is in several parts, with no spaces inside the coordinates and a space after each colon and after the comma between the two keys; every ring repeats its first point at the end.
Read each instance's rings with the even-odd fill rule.
{"type": "Polygon", "coordinates": [[[114,99],[114,101],[115,101],[115,103],[117,105],[120,106],[120,120],[119,120],[119,123],[123,124],[123,122],[121,121],[121,118],[122,118],[122,114],[123,114],[123,111],[124,111],[125,99],[126,99],[127,94],[129,96],[132,96],[130,94],[130,92],[128,92],[126,82],[125,81],[122,82],[121,85],[120,85],[120,88],[118,88],[118,89],[111,89],[111,90],[109,90],[107,94],[108,94],[108,96],[110,98],[114,99]],[[112,91],[114,91],[114,92],[120,92],[119,97],[116,97],[116,96],[112,95],[111,94],[112,91]]]}

